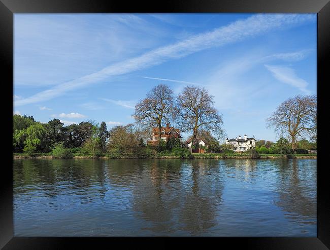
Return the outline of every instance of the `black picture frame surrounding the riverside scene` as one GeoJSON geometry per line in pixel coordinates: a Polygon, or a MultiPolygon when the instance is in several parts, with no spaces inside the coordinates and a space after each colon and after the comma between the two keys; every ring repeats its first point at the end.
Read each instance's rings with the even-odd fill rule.
{"type": "MultiPolygon", "coordinates": [[[[315,238],[185,238],[186,243],[197,243],[196,239],[204,243],[215,243],[222,246],[229,243],[232,246],[238,244],[254,249],[327,249],[330,248],[330,195],[326,170],[328,166],[321,164],[326,157],[325,140],[326,115],[320,115],[322,109],[326,110],[326,85],[329,81],[327,65],[329,61],[330,44],[330,3],[328,0],[226,0],[226,1],[153,1],[142,4],[139,1],[118,0],[0,0],[0,55],[3,64],[2,86],[10,86],[13,83],[13,14],[15,13],[157,13],[157,12],[222,12],[222,13],[317,13],[317,96],[318,96],[318,166],[317,166],[317,237],[315,238]],[[7,81],[6,81],[7,79],[7,81]],[[325,136],[325,137],[324,137],[325,136]],[[210,241],[211,240],[211,241],[210,241]]],[[[13,88],[8,89],[2,98],[8,120],[12,120],[12,109],[8,103],[12,103],[13,88]],[[11,95],[10,95],[11,93],[11,95]]],[[[12,104],[11,104],[12,105],[12,104]]],[[[12,106],[11,106],[12,107],[12,106]]],[[[11,131],[12,123],[8,122],[8,131],[11,131]]],[[[8,140],[12,140],[8,133],[8,140]]],[[[7,144],[9,145],[9,144],[7,144]]],[[[1,178],[1,204],[0,204],[0,248],[3,249],[62,249],[77,244],[95,248],[96,243],[112,244],[120,243],[121,247],[127,243],[142,243],[143,238],[17,238],[13,237],[13,172],[9,167],[12,164],[11,148],[4,149],[8,164],[2,165],[1,178]],[[6,150],[6,151],[5,151],[6,150]]],[[[150,244],[159,238],[143,240],[150,244]]],[[[168,243],[169,239],[161,239],[168,243]]],[[[111,244],[111,245],[110,245],[111,244]]],[[[136,245],[134,245],[136,246],[136,245]]]]}

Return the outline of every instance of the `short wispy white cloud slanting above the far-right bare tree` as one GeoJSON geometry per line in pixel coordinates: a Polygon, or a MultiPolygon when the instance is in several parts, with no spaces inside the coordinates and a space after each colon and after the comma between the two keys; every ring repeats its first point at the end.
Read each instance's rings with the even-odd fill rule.
{"type": "Polygon", "coordinates": [[[289,84],[293,87],[299,88],[301,91],[310,94],[307,89],[308,82],[299,78],[293,69],[285,66],[265,65],[265,67],[273,74],[273,76],[280,82],[289,84]]]}

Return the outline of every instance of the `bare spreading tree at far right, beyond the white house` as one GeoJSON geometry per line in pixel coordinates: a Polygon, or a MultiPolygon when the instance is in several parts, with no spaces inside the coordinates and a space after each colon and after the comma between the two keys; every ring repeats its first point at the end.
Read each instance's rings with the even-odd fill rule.
{"type": "Polygon", "coordinates": [[[268,127],[272,127],[278,134],[288,135],[292,142],[292,149],[296,148],[299,137],[308,135],[315,137],[317,132],[317,97],[295,96],[284,101],[267,120],[268,127]]]}

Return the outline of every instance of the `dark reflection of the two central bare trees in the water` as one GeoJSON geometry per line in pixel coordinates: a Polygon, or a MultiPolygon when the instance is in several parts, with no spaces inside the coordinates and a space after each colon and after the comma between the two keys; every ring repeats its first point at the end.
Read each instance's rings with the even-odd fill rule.
{"type": "Polygon", "coordinates": [[[150,222],[146,229],[160,234],[203,233],[216,224],[222,201],[218,173],[217,160],[153,161],[134,187],[136,215],[150,222]]]}

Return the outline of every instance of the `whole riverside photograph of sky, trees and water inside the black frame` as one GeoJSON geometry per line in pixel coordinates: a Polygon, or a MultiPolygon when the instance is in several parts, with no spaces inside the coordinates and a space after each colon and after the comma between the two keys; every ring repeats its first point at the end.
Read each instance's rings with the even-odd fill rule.
{"type": "Polygon", "coordinates": [[[14,13],[13,236],[316,238],[317,25],[14,13]]]}

